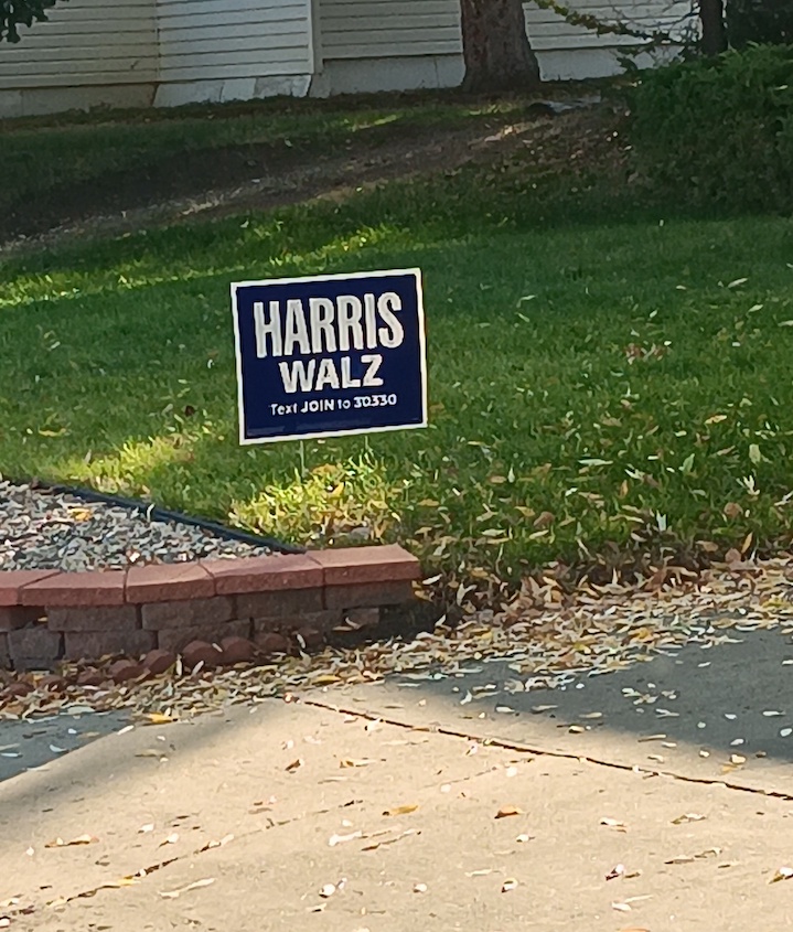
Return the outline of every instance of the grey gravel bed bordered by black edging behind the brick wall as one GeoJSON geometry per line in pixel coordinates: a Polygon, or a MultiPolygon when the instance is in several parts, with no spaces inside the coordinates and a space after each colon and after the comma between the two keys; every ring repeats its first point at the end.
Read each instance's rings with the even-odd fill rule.
{"type": "Polygon", "coordinates": [[[150,521],[143,508],[0,480],[0,570],[73,572],[271,553],[182,522],[150,521]]]}

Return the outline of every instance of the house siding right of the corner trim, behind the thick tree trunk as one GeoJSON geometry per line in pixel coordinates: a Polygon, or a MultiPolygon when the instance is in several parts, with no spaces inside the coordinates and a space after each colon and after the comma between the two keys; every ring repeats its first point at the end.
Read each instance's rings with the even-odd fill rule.
{"type": "MultiPolygon", "coordinates": [[[[453,87],[463,77],[459,0],[318,0],[323,74],[315,93],[453,87]]],[[[690,0],[566,0],[576,12],[637,30],[679,28],[690,0]]],[[[535,3],[526,28],[543,77],[582,79],[619,73],[630,36],[569,25],[535,3]]],[[[645,57],[640,64],[646,63],[645,57]]]]}

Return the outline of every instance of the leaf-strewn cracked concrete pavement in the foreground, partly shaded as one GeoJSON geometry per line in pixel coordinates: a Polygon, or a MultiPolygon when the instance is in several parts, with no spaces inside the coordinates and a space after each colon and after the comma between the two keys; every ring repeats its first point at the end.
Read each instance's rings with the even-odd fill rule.
{"type": "Polygon", "coordinates": [[[99,738],[0,784],[0,915],[52,932],[793,929],[793,880],[770,882],[793,866],[787,653],[756,633],[546,694],[483,664],[99,738]]]}

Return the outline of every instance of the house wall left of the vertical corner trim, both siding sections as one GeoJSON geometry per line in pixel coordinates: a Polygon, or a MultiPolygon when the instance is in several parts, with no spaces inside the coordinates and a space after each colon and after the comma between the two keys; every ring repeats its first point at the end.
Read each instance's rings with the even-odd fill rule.
{"type": "Polygon", "coordinates": [[[0,49],[0,117],[303,96],[312,0],[69,0],[0,49]]]}

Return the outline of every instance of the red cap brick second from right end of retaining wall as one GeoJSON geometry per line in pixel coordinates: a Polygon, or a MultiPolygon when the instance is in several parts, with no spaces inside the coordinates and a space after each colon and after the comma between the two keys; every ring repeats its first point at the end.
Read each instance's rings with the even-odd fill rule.
{"type": "Polygon", "coordinates": [[[309,557],[248,557],[234,560],[201,560],[215,580],[218,594],[276,592],[322,586],[322,568],[309,557]]]}

